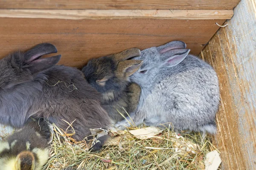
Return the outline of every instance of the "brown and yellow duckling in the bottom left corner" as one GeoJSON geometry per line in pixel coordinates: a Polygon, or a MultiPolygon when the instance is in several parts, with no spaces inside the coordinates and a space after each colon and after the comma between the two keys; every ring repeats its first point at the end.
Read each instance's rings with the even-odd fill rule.
{"type": "Polygon", "coordinates": [[[52,133],[44,119],[26,123],[0,142],[0,169],[41,170],[49,159],[52,133]]]}

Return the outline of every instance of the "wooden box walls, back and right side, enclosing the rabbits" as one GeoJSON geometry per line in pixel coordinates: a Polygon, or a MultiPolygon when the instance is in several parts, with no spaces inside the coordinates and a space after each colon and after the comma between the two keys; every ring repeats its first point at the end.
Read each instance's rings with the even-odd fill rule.
{"type": "Polygon", "coordinates": [[[59,64],[81,68],[93,57],[182,40],[218,74],[221,169],[255,169],[256,1],[239,1],[0,0],[0,57],[50,42],[59,64]]]}

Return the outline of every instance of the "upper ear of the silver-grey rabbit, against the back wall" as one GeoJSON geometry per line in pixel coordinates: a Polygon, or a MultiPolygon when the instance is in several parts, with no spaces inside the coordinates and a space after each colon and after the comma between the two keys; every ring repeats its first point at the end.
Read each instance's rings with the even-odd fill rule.
{"type": "Polygon", "coordinates": [[[161,45],[157,47],[157,51],[160,54],[165,53],[166,51],[174,50],[174,49],[185,49],[186,48],[186,43],[183,41],[171,41],[168,42],[165,45],[161,45]]]}

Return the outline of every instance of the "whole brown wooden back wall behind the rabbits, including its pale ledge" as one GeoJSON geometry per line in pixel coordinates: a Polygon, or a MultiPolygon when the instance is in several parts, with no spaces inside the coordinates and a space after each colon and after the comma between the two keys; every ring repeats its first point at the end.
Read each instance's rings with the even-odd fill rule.
{"type": "Polygon", "coordinates": [[[0,0],[0,58],[50,42],[59,64],[186,42],[198,55],[239,0],[0,0]]]}

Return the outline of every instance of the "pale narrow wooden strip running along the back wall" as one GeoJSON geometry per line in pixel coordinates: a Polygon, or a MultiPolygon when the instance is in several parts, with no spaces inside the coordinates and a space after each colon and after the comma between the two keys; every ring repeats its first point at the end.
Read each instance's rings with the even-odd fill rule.
{"type": "Polygon", "coordinates": [[[125,19],[152,18],[173,20],[230,19],[233,10],[104,10],[104,9],[0,9],[0,17],[52,19],[125,19]]]}

